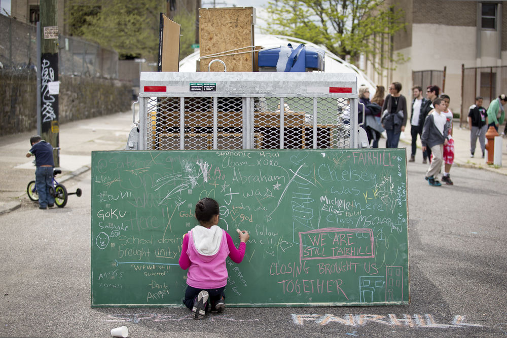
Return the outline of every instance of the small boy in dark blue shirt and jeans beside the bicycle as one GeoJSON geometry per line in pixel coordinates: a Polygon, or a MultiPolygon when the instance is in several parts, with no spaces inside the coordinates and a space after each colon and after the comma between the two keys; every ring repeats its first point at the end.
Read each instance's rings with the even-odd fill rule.
{"type": "Polygon", "coordinates": [[[39,194],[39,209],[46,209],[55,204],[55,198],[49,193],[53,187],[53,147],[39,135],[30,137],[31,149],[26,157],[35,156],[35,186],[39,194]]]}

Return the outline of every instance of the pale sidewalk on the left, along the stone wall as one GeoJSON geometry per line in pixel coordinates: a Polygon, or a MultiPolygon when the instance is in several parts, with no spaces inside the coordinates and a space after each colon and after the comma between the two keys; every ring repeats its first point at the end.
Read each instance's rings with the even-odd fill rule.
{"type": "MultiPolygon", "coordinates": [[[[86,172],[91,167],[91,152],[124,149],[132,112],[69,122],[60,126],[60,167],[58,182],[86,172]]],[[[37,131],[0,137],[0,214],[10,212],[28,200],[26,186],[35,179],[33,157],[26,158],[30,136],[37,131]]],[[[70,192],[69,192],[70,193],[70,192]]]]}

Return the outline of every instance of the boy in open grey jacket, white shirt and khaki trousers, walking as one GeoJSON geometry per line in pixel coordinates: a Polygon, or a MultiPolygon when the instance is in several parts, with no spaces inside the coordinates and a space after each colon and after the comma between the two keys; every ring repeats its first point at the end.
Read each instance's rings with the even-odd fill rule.
{"type": "Polygon", "coordinates": [[[428,181],[429,185],[440,186],[442,184],[434,178],[434,175],[438,174],[442,169],[444,145],[447,144],[449,136],[449,123],[445,115],[442,114],[442,111],[446,109],[444,99],[440,97],[434,99],[433,106],[435,108],[426,117],[424,127],[422,128],[422,151],[426,151],[426,148],[429,147],[433,154],[433,160],[424,178],[428,181]]]}

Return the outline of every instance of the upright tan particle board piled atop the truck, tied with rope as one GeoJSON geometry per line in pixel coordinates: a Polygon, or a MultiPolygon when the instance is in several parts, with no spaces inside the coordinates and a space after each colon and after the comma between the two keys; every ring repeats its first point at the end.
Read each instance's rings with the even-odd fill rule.
{"type": "MultiPolygon", "coordinates": [[[[214,59],[225,62],[227,71],[253,71],[253,25],[255,9],[201,8],[199,9],[200,71],[208,71],[214,59]],[[235,55],[223,55],[247,52],[235,55]],[[212,54],[219,54],[207,57],[212,54]]],[[[224,66],[215,62],[210,71],[224,71],[224,66]]]]}

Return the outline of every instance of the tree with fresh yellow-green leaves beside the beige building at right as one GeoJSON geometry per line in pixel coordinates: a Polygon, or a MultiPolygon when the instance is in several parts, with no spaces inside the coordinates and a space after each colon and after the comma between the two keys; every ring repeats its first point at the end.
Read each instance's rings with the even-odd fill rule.
{"type": "MultiPolygon", "coordinates": [[[[330,52],[354,61],[359,55],[379,53],[378,36],[392,36],[405,27],[404,12],[388,6],[385,0],[279,0],[270,1],[270,19],[263,31],[298,37],[325,46],[330,52]]],[[[385,59],[404,62],[400,53],[380,53],[374,63],[381,71],[385,59]]]]}

